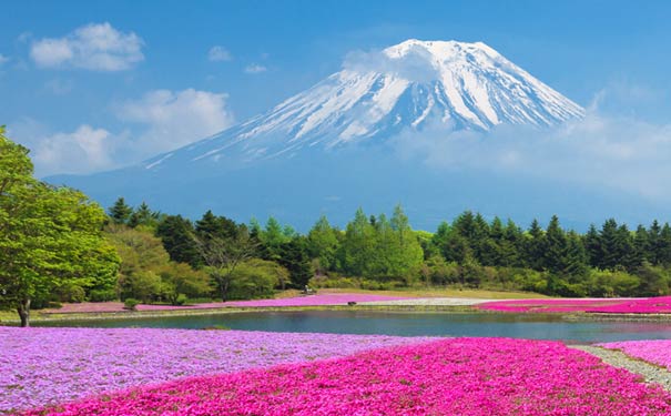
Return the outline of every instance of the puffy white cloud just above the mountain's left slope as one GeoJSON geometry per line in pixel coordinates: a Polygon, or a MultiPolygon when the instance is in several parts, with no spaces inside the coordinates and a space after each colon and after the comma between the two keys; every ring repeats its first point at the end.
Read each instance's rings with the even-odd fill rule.
{"type": "Polygon", "coordinates": [[[227,95],[187,89],[156,90],[118,105],[119,118],[142,124],[138,145],[145,156],[206,138],[233,124],[227,95]]]}

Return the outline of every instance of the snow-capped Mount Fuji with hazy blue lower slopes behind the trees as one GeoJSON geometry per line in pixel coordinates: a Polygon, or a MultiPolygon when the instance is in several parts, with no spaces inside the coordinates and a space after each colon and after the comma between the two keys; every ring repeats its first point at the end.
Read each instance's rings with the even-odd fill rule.
{"type": "Polygon", "coordinates": [[[237,221],[275,215],[299,230],[321,214],[344,225],[358,206],[379,213],[396,203],[427,230],[467,209],[516,221],[557,213],[581,226],[612,215],[621,196],[533,175],[436,170],[395,143],[426,141],[437,128],[447,140],[510,125],[541,132],[583,115],[485,43],[407,40],[350,54],[339,72],[204,140],[134,166],[48,181],[104,206],[125,196],[191,217],[210,209],[237,221]]]}

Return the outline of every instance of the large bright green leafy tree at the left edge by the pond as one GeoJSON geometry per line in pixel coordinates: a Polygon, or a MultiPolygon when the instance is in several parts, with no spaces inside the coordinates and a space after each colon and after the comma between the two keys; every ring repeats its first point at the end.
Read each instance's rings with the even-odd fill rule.
{"type": "Polygon", "coordinates": [[[119,258],[101,235],[104,211],[84,194],[32,176],[28,150],[0,128],[0,307],[30,325],[33,301],[59,287],[104,286],[119,258]]]}

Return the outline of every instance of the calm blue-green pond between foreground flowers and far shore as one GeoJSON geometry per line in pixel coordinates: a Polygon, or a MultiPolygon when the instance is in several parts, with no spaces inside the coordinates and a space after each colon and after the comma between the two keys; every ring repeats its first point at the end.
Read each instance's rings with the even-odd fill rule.
{"type": "Polygon", "coordinates": [[[250,312],[67,321],[39,326],[205,328],[401,336],[498,336],[572,343],[671,338],[671,322],[565,321],[558,315],[363,311],[250,312]]]}

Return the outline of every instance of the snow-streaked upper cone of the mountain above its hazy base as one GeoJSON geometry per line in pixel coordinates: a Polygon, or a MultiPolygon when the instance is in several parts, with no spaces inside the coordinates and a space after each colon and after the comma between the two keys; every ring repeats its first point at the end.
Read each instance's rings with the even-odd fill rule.
{"type": "Polygon", "coordinates": [[[144,168],[291,155],[385,140],[436,122],[488,131],[501,123],[551,126],[582,115],[580,105],[485,43],[407,40],[350,57],[342,71],[267,113],[151,159],[144,168]]]}

